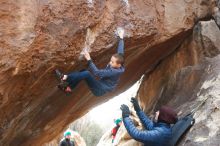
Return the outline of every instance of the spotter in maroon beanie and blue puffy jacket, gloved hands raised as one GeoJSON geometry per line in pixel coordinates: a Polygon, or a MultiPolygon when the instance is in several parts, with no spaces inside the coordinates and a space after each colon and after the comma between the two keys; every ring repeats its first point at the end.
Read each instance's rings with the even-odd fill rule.
{"type": "Polygon", "coordinates": [[[144,143],[146,146],[169,146],[172,138],[171,124],[177,122],[177,113],[167,106],[162,106],[155,114],[155,122],[141,110],[137,99],[132,98],[134,109],[146,130],[139,130],[129,118],[130,110],[127,105],[121,105],[125,128],[132,138],[144,143]]]}

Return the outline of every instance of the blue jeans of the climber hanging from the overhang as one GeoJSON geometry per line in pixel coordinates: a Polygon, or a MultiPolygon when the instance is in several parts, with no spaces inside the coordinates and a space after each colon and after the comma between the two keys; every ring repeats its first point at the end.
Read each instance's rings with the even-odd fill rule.
{"type": "Polygon", "coordinates": [[[75,88],[82,80],[86,81],[87,85],[95,96],[102,96],[106,93],[102,88],[102,84],[87,70],[72,72],[67,77],[67,82],[69,83],[71,89],[75,88]]]}

